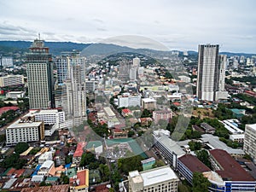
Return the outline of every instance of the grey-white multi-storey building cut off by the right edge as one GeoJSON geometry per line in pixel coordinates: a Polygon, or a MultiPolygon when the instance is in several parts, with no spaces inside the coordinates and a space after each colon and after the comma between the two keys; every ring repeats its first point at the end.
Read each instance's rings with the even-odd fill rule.
{"type": "Polygon", "coordinates": [[[243,150],[256,163],[256,124],[246,125],[243,150]]]}

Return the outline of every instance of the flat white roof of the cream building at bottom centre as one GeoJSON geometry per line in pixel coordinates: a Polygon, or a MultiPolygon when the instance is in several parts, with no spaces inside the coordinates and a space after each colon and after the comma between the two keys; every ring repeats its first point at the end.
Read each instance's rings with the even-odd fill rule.
{"type": "Polygon", "coordinates": [[[144,187],[154,185],[155,183],[166,182],[171,179],[178,179],[170,166],[162,166],[160,168],[140,172],[140,175],[143,177],[144,187]]]}

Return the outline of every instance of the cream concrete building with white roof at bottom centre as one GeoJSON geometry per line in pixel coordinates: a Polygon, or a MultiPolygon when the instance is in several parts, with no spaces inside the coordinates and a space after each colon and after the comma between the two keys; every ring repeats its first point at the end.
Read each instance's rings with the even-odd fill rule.
{"type": "Polygon", "coordinates": [[[169,166],[161,166],[148,171],[129,172],[129,191],[172,191],[177,192],[178,177],[169,166]]]}

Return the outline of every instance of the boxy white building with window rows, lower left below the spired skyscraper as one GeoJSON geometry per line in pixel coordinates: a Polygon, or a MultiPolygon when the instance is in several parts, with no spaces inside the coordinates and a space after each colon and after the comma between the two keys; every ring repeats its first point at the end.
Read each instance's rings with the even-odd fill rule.
{"type": "Polygon", "coordinates": [[[21,118],[9,125],[6,130],[6,145],[11,146],[20,142],[39,142],[44,140],[44,122],[34,119],[21,118]]]}

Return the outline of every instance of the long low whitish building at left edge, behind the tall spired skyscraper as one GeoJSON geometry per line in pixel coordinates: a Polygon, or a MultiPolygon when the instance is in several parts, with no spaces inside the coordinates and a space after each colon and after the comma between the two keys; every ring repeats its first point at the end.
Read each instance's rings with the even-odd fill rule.
{"type": "Polygon", "coordinates": [[[0,87],[25,84],[23,75],[7,75],[0,77],[0,87]]]}

